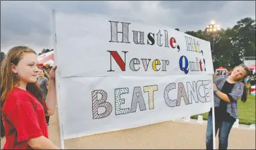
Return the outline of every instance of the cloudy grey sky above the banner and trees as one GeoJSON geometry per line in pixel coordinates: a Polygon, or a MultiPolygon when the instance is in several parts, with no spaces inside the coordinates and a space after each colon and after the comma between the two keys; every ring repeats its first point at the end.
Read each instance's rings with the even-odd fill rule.
{"type": "Polygon", "coordinates": [[[255,1],[1,1],[1,52],[26,45],[52,49],[52,9],[93,12],[157,23],[185,32],[215,20],[224,29],[255,19],[255,1]]]}

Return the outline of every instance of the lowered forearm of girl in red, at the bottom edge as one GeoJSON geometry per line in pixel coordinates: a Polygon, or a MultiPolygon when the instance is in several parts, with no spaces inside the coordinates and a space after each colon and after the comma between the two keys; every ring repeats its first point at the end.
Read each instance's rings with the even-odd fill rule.
{"type": "Polygon", "coordinates": [[[27,140],[27,143],[33,149],[60,149],[44,136],[39,136],[38,138],[31,138],[27,140]]]}

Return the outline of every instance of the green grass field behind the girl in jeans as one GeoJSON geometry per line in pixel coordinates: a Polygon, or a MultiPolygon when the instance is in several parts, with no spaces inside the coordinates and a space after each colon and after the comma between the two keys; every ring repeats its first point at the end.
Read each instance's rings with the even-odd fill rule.
{"type": "MultiPolygon", "coordinates": [[[[208,119],[208,112],[202,113],[204,120],[208,119]]],[[[255,96],[248,95],[248,100],[243,103],[238,100],[239,123],[244,125],[255,124],[255,96]]],[[[191,116],[191,119],[197,119],[198,115],[191,116]]]]}

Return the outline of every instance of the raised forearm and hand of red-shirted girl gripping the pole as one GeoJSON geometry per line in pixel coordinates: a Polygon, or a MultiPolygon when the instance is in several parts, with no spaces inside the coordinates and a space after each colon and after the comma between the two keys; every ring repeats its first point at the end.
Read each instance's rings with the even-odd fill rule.
{"type": "Polygon", "coordinates": [[[55,70],[57,67],[52,67],[50,71],[50,79],[48,85],[48,93],[45,100],[48,115],[54,115],[56,109],[56,83],[55,83],[55,70]]]}

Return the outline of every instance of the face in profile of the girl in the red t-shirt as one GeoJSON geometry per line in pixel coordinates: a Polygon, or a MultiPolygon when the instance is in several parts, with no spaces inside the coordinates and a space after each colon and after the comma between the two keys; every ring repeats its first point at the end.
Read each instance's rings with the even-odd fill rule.
{"type": "Polygon", "coordinates": [[[12,72],[18,74],[20,81],[25,83],[37,82],[37,55],[35,53],[24,53],[18,65],[12,65],[12,72]]]}

